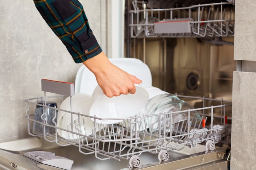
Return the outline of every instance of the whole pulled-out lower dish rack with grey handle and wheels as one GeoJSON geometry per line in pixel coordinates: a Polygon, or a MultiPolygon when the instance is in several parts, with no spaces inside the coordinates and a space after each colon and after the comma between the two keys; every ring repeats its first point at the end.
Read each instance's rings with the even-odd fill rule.
{"type": "MultiPolygon", "coordinates": [[[[226,107],[231,107],[232,105],[230,101],[176,94],[178,97],[184,99],[202,100],[203,107],[170,113],[116,118],[120,120],[120,123],[105,125],[103,123],[97,124],[96,122],[97,120],[106,121],[114,119],[101,119],[96,116],[89,116],[86,113],[66,111],[42,104],[42,101],[46,103],[46,101],[49,100],[61,99],[63,101],[64,99],[63,94],[47,97],[46,91],[61,94],[63,89],[67,89],[64,87],[66,85],[64,82],[48,82],[51,84],[48,84],[47,87],[42,83],[44,97],[24,100],[28,107],[26,110],[28,133],[32,136],[40,136],[49,142],[55,142],[60,146],[77,146],[79,152],[86,155],[94,154],[95,157],[100,160],[110,158],[115,160],[130,159],[130,167],[139,167],[141,163],[139,156],[144,152],[158,154],[160,161],[166,161],[169,158],[167,151],[182,150],[186,146],[194,148],[197,144],[204,142],[206,143],[206,150],[214,150],[215,144],[220,142],[220,140],[228,142],[231,138],[231,124],[227,124],[227,119],[230,118],[227,118],[225,115],[226,107]],[[220,105],[205,107],[207,101],[219,102],[220,105]],[[46,119],[42,119],[42,121],[36,121],[34,119],[33,112],[35,106],[43,107],[46,119]],[[51,120],[54,125],[47,121],[47,109],[54,110],[54,117],[51,120]],[[58,111],[65,111],[66,114],[70,114],[70,119],[74,121],[74,125],[71,123],[71,129],[57,127],[56,119],[58,111]],[[221,112],[220,116],[214,114],[219,111],[221,112]],[[200,118],[192,117],[192,112],[197,112],[200,118]],[[185,115],[185,118],[178,122],[172,122],[174,115],[180,113],[185,115]],[[74,117],[78,117],[78,119],[74,120],[74,117]],[[147,119],[152,117],[158,117],[158,121],[152,125],[147,125],[147,119]],[[93,127],[86,128],[85,120],[90,118],[94,119],[93,127]],[[215,123],[215,118],[218,120],[217,123],[215,123]],[[44,127],[41,134],[33,133],[32,125],[34,123],[38,123],[44,127]],[[46,128],[52,128],[53,130],[49,133],[46,131],[46,128]],[[64,138],[58,134],[57,129],[70,135],[64,138]]],[[[74,84],[68,84],[68,89],[71,89],[71,91],[68,92],[70,96],[74,95],[74,84]]],[[[66,90],[64,93],[64,95],[67,95],[66,90]]],[[[72,105],[72,97],[70,97],[70,103],[72,105]]],[[[43,115],[41,118],[43,118],[43,115]]]]}

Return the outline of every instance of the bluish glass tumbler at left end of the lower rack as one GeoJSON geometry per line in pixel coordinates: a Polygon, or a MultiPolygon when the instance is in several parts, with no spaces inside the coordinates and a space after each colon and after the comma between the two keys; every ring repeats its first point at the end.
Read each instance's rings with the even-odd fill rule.
{"type": "MultiPolygon", "coordinates": [[[[37,102],[37,103],[41,104],[41,105],[45,104],[44,101],[37,102]]],[[[46,105],[50,106],[50,107],[57,108],[57,104],[54,102],[51,102],[51,101],[47,101],[46,105]]],[[[46,123],[46,114],[47,114],[47,124],[55,126],[55,124],[52,122],[52,119],[54,119],[54,117],[57,116],[57,111],[56,111],[56,115],[54,114],[54,111],[55,111],[54,109],[36,105],[36,110],[34,113],[34,120],[42,122],[42,123],[46,123]],[[46,112],[46,114],[44,112],[46,112]]],[[[54,132],[55,132],[54,128],[49,127],[49,126],[46,126],[45,129],[46,129],[46,134],[54,134],[54,132]]],[[[44,125],[34,122],[32,132],[34,134],[43,134],[44,133],[44,125]]]]}

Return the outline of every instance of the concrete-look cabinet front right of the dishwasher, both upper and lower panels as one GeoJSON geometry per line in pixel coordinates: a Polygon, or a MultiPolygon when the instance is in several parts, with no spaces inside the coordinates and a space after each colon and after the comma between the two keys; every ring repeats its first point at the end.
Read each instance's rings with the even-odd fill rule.
{"type": "MultiPolygon", "coordinates": [[[[236,0],[234,59],[242,60],[238,62],[242,62],[242,71],[255,71],[250,67],[256,67],[255,61],[252,61],[256,60],[255,7],[255,0],[236,0]],[[243,64],[244,60],[248,60],[246,64],[243,64]]],[[[233,74],[230,169],[254,170],[256,169],[256,73],[242,71],[238,70],[233,74]]]]}

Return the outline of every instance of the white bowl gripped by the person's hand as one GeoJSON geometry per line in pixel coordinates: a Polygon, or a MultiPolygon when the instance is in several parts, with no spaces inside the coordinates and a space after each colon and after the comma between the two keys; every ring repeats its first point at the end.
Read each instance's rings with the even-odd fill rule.
{"type": "MultiPolygon", "coordinates": [[[[137,115],[148,103],[148,92],[141,85],[136,85],[136,93],[120,95],[109,98],[104,95],[100,86],[97,86],[92,94],[90,116],[102,119],[128,118],[137,115]]],[[[94,121],[94,119],[92,119],[94,121]]],[[[121,122],[118,120],[100,120],[96,123],[112,124],[121,122]]]]}

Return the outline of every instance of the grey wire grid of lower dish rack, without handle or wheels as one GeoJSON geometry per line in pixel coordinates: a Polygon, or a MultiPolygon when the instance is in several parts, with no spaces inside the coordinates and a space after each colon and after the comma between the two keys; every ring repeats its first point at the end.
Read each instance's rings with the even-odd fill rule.
{"type": "MultiPolygon", "coordinates": [[[[184,96],[180,96],[184,97],[184,96]]],[[[200,98],[200,97],[195,97],[200,98]]],[[[70,124],[69,128],[57,127],[56,117],[57,109],[55,107],[49,107],[41,105],[32,100],[38,100],[42,98],[28,99],[28,109],[26,111],[26,118],[28,119],[28,132],[32,136],[42,136],[49,142],[56,142],[60,146],[74,145],[79,148],[79,151],[83,154],[94,154],[96,158],[100,160],[106,160],[113,158],[116,160],[129,159],[132,155],[140,155],[143,152],[150,152],[157,154],[160,150],[181,150],[185,146],[191,148],[196,147],[196,144],[203,141],[212,140],[215,143],[219,142],[223,137],[230,135],[230,125],[225,125],[223,119],[223,125],[213,125],[213,111],[216,108],[224,109],[228,105],[223,105],[223,100],[220,101],[221,105],[203,107],[199,109],[191,109],[187,111],[178,111],[171,113],[159,113],[156,115],[146,115],[143,117],[130,117],[124,118],[120,123],[104,125],[97,124],[97,117],[90,117],[80,113],[74,113],[66,111],[71,115],[76,115],[78,119],[74,120],[74,125],[70,124]],[[40,105],[46,108],[54,109],[54,117],[52,122],[54,125],[50,125],[44,119],[43,121],[35,121],[34,115],[29,114],[31,111],[30,105],[40,105]],[[202,127],[202,120],[206,114],[204,111],[211,110],[210,123],[208,127],[202,127]],[[200,114],[200,117],[193,117],[193,112],[200,114]],[[176,114],[182,114],[183,117],[179,121],[174,121],[176,114]],[[185,115],[185,116],[184,116],[185,115]],[[154,123],[148,124],[148,119],[158,118],[154,123]],[[86,128],[85,119],[94,118],[94,126],[86,128]],[[33,134],[31,132],[31,122],[36,122],[44,126],[42,134],[33,134]],[[53,128],[54,133],[46,133],[46,128],[53,128]],[[149,128],[148,128],[149,127],[149,128]],[[68,137],[64,138],[59,136],[57,129],[68,133],[68,137]],[[113,146],[114,147],[110,147],[113,146]]],[[[62,98],[63,99],[63,98],[62,98]]],[[[207,100],[206,98],[200,98],[207,100]]],[[[215,99],[210,99],[215,100],[215,99]]],[[[62,110],[64,111],[64,110],[62,110]]],[[[46,114],[47,115],[47,114],[46,114]]],[[[119,119],[119,118],[118,118],[119,119]]],[[[47,120],[47,119],[46,119],[47,120]]],[[[222,121],[222,119],[221,119],[222,121]]],[[[209,121],[208,121],[209,122],[209,121]]]]}

